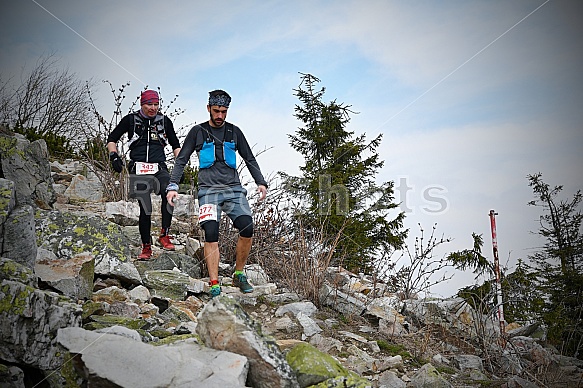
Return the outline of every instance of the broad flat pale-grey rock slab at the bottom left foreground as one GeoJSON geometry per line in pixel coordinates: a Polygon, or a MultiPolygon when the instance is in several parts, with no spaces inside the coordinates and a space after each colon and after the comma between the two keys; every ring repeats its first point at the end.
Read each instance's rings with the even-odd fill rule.
{"type": "Polygon", "coordinates": [[[57,341],[79,355],[89,387],[245,387],[247,379],[245,357],[196,343],[152,346],[81,328],[59,330],[57,341]]]}

